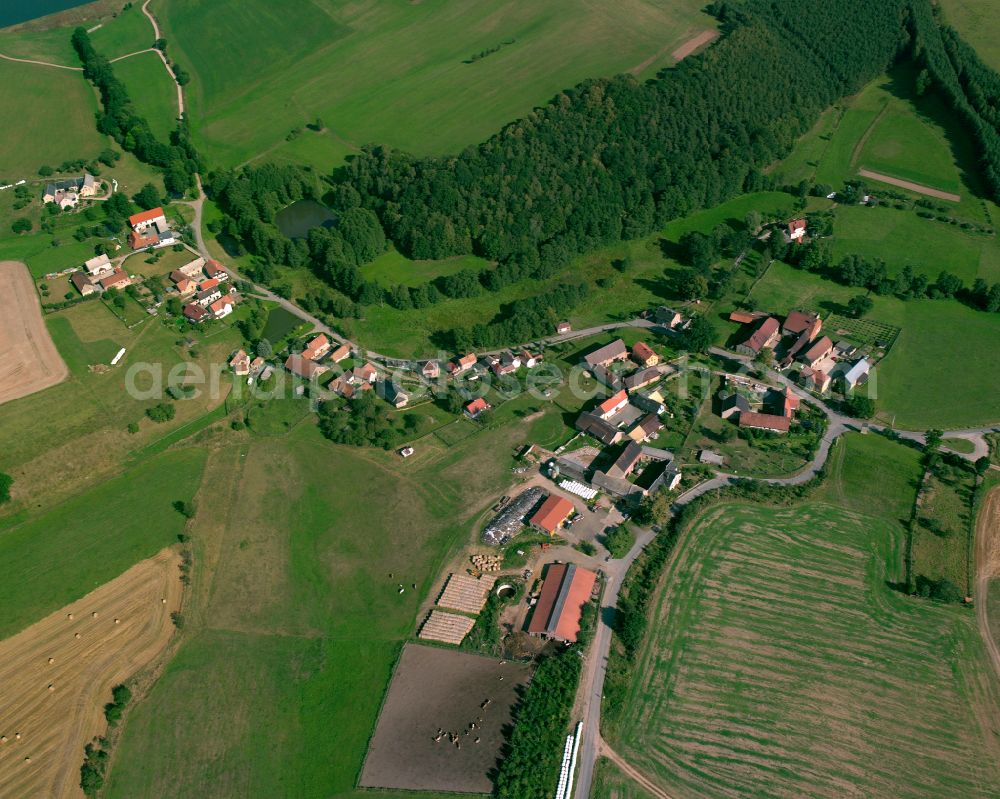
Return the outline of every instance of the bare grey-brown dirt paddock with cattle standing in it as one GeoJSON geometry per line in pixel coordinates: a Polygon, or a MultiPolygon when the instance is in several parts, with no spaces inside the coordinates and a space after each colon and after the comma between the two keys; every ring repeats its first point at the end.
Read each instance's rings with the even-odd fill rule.
{"type": "Polygon", "coordinates": [[[503,729],[511,722],[517,688],[527,684],[531,672],[530,664],[501,666],[496,658],[407,644],[368,748],[361,786],[492,791],[503,729]]]}

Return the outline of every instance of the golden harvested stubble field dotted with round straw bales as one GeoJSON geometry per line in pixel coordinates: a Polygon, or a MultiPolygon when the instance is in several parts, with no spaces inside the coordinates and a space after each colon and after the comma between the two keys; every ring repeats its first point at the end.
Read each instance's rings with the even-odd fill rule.
{"type": "Polygon", "coordinates": [[[174,630],[179,562],[165,549],[0,641],[0,796],[83,796],[83,747],[107,726],[111,688],[174,630]]]}

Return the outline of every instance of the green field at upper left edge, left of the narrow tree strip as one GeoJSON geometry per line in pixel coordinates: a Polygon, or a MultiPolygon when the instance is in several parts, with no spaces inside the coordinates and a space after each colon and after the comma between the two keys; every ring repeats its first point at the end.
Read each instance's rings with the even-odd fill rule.
{"type": "Polygon", "coordinates": [[[43,164],[95,158],[107,146],[94,123],[97,99],[78,72],[0,61],[0,107],[17,119],[17,135],[0,149],[7,182],[33,178],[43,164]]]}

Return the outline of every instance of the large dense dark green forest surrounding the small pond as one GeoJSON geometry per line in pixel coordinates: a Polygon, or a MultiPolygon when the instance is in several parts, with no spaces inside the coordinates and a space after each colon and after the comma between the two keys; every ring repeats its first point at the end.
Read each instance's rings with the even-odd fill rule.
{"type": "MultiPolygon", "coordinates": [[[[325,182],[272,165],[215,174],[209,190],[226,214],[218,232],[261,256],[255,277],[265,282],[268,264],[309,266],[331,291],[307,304],[334,315],[499,291],[551,277],[579,253],[774,188],[765,167],[824,109],[903,59],[915,60],[963,119],[1000,197],[1000,75],[939,23],[929,0],[748,0],[709,11],[725,35],[701,55],[645,82],[585,81],[455,156],[376,145],[325,182]],[[321,193],[338,215],[334,228],[298,241],[277,230],[282,205],[321,193]],[[472,253],[498,266],[385,288],[359,267],[386,241],[415,259],[472,253]]],[[[446,338],[458,349],[525,340],[543,329],[540,314],[565,315],[582,296],[562,287],[547,303],[540,298],[544,309],[522,301],[446,338]]]]}

